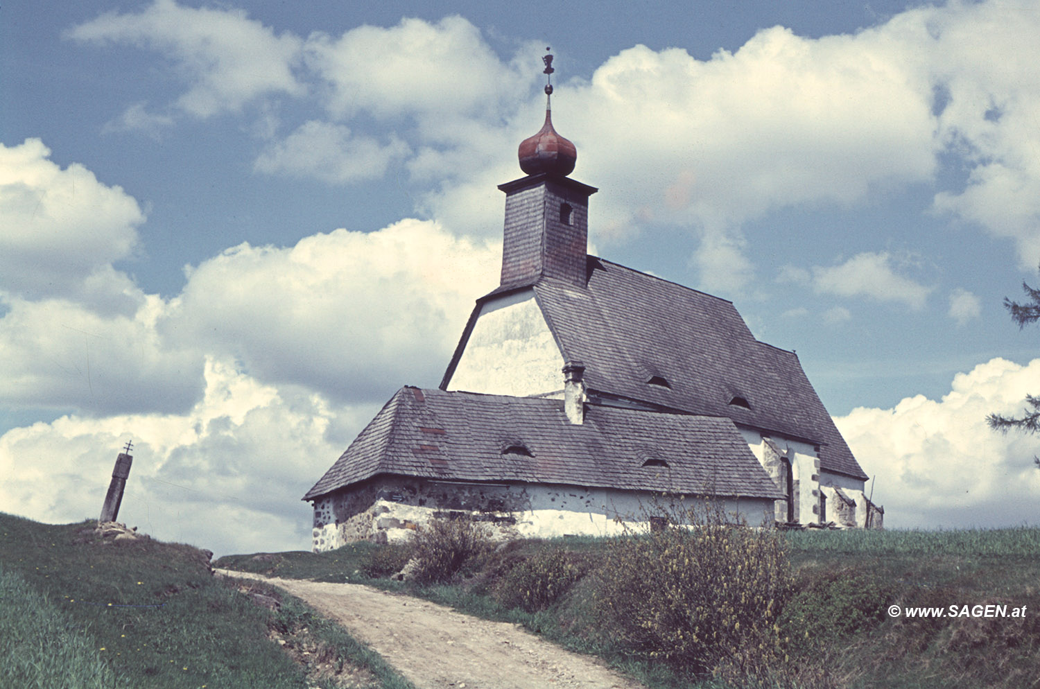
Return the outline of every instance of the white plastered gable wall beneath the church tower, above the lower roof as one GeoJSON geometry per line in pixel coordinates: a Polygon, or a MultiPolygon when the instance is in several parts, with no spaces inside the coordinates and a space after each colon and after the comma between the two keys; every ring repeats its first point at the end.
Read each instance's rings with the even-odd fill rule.
{"type": "Polygon", "coordinates": [[[563,389],[560,353],[535,291],[485,303],[448,390],[527,397],[563,389]]]}

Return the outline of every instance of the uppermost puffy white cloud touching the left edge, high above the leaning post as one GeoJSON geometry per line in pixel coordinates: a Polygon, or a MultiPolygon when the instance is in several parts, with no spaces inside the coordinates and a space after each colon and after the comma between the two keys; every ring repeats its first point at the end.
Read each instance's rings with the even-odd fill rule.
{"type": "Polygon", "coordinates": [[[137,202],[50,155],[40,139],[0,143],[0,295],[82,297],[137,244],[137,202]]]}

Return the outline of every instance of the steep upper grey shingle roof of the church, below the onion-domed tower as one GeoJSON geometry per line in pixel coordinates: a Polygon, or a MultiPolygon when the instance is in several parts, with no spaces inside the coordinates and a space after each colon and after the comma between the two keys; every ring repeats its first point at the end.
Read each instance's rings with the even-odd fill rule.
{"type": "Polygon", "coordinates": [[[592,256],[583,288],[542,277],[482,297],[442,388],[480,303],[528,288],[564,361],[586,365],[592,395],[728,417],[738,425],[820,446],[825,471],[867,478],[795,352],[756,340],[731,301],[592,256]]]}

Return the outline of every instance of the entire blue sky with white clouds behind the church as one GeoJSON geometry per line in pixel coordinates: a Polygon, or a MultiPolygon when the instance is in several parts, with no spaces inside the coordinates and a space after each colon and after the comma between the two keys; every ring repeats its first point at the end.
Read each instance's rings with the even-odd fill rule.
{"type": "Polygon", "coordinates": [[[891,526],[1040,521],[1038,2],[0,7],[0,509],[219,552],[300,496],[496,284],[541,125],[593,250],[795,349],[891,526]]]}

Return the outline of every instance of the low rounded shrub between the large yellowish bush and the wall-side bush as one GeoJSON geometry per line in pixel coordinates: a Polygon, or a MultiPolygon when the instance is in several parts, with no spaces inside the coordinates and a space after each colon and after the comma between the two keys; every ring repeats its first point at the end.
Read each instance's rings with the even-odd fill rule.
{"type": "Polygon", "coordinates": [[[581,577],[581,568],[562,550],[537,553],[498,580],[494,595],[508,608],[545,610],[581,577]]]}

